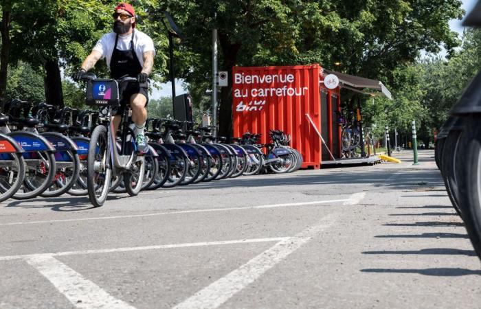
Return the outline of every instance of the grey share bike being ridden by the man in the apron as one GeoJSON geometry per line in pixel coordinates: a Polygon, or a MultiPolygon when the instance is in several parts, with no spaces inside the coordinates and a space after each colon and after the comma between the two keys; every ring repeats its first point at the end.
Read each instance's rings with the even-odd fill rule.
{"type": "MultiPolygon", "coordinates": [[[[130,196],[137,195],[142,187],[144,156],[137,152],[133,130],[129,128],[130,108],[124,109],[118,134],[111,122],[112,108],[120,106],[119,89],[137,80],[131,77],[98,79],[93,73],[87,73],[82,80],[87,82],[87,104],[99,107],[100,124],[91,133],[87,155],[89,199],[95,207],[99,207],[107,200],[111,181],[118,185],[123,180],[130,196]]],[[[116,185],[113,184],[113,187],[116,185]]]]}

